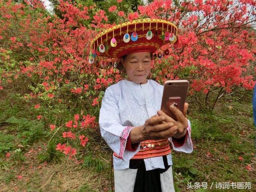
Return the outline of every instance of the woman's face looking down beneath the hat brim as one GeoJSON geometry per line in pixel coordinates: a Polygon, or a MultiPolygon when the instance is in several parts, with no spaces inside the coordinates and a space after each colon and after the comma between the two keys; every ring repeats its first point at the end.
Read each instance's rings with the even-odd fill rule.
{"type": "Polygon", "coordinates": [[[151,58],[149,52],[128,54],[122,64],[128,75],[127,80],[145,84],[151,69],[151,58]]]}

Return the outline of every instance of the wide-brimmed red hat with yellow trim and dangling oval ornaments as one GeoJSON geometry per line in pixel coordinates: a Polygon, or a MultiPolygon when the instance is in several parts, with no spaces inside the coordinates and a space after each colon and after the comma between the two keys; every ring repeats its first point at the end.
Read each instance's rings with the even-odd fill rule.
{"type": "Polygon", "coordinates": [[[138,19],[116,25],[98,34],[91,42],[89,62],[96,56],[121,58],[134,52],[154,53],[167,43],[178,42],[178,29],[162,19],[138,19]]]}

